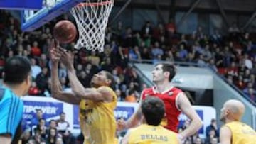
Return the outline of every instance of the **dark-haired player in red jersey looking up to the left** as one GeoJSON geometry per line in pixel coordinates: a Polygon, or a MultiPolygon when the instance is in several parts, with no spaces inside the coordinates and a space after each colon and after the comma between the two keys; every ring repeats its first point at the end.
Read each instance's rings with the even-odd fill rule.
{"type": "MultiPolygon", "coordinates": [[[[160,63],[154,67],[152,71],[154,87],[144,89],[140,98],[140,104],[146,96],[156,96],[164,101],[166,114],[161,121],[161,125],[165,128],[178,132],[178,116],[184,113],[189,119],[191,124],[178,134],[181,140],[196,133],[202,126],[202,121],[196,111],[191,106],[190,101],[181,89],[178,89],[170,84],[171,79],[176,75],[176,67],[169,63],[160,63]]],[[[138,109],[128,121],[118,121],[118,128],[132,128],[142,122],[142,111],[138,109]]]]}

